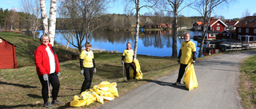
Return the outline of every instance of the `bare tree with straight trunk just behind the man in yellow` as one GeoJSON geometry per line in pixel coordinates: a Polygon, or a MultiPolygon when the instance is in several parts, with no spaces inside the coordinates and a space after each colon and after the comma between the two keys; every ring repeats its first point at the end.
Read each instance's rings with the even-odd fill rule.
{"type": "Polygon", "coordinates": [[[182,8],[180,6],[184,2],[184,0],[163,0],[164,5],[166,7],[166,11],[172,12],[174,16],[174,21],[173,21],[173,54],[172,56],[177,57],[177,33],[178,33],[178,14],[187,6],[192,5],[194,2],[198,0],[193,0],[192,2],[186,4],[182,8]],[[169,10],[168,10],[169,9],[169,10]],[[171,11],[170,11],[171,9],[171,11]]]}

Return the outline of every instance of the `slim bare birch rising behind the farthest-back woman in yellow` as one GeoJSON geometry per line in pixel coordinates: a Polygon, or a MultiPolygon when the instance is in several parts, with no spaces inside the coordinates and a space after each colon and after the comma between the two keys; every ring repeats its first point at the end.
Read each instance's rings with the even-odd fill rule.
{"type": "MultiPolygon", "coordinates": [[[[138,33],[139,33],[139,18],[140,18],[140,14],[139,11],[143,8],[152,8],[154,6],[156,6],[156,4],[158,3],[158,0],[145,0],[144,2],[146,2],[146,5],[141,6],[141,1],[140,0],[126,0],[126,2],[128,2],[126,4],[126,9],[127,11],[133,11],[136,10],[136,29],[135,29],[135,41],[134,41],[134,58],[137,58],[137,49],[138,49],[138,33]],[[133,4],[134,6],[131,6],[131,4],[133,4]],[[129,9],[131,7],[131,9],[129,9]]],[[[130,13],[130,12],[129,12],[130,13]]]]}

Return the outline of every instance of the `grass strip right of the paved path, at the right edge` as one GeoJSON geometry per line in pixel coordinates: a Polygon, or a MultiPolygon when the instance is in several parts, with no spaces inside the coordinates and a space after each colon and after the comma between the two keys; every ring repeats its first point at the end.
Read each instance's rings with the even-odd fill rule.
{"type": "Polygon", "coordinates": [[[238,92],[242,107],[256,108],[256,56],[250,56],[243,60],[240,70],[238,92]]]}

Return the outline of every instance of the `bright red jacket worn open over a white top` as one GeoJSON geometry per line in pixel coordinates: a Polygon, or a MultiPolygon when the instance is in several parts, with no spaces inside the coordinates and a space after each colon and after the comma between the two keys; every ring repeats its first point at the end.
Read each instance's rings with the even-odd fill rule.
{"type": "MultiPolygon", "coordinates": [[[[52,45],[48,44],[50,47],[50,51],[52,53],[53,49],[51,48],[52,45]]],[[[58,64],[58,57],[57,54],[54,53],[54,60],[55,60],[55,72],[61,72],[58,64]]],[[[44,74],[49,75],[50,73],[50,61],[48,53],[46,52],[46,45],[38,46],[38,49],[34,51],[34,62],[37,68],[38,76],[42,76],[44,74]]]]}

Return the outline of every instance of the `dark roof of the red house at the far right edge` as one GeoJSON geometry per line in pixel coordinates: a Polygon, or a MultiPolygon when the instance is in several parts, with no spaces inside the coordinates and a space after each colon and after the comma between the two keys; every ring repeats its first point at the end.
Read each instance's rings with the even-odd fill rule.
{"type": "Polygon", "coordinates": [[[242,18],[235,27],[254,27],[256,28],[256,16],[247,16],[242,18]]]}

